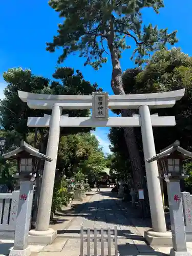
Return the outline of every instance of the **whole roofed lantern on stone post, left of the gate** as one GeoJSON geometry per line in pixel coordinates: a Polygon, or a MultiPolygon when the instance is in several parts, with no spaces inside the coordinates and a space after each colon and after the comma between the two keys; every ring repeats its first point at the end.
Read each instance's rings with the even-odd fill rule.
{"type": "Polygon", "coordinates": [[[19,201],[17,210],[14,246],[9,255],[31,254],[28,247],[28,233],[31,222],[31,211],[33,203],[33,182],[36,177],[39,160],[51,162],[52,159],[41,154],[38,150],[22,141],[20,147],[3,155],[4,159],[17,161],[16,178],[20,180],[19,201]]]}

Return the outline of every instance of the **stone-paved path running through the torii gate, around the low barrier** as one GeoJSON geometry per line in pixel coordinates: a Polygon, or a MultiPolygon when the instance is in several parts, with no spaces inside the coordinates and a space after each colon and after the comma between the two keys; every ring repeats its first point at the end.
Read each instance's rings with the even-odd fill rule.
{"type": "MultiPolygon", "coordinates": [[[[33,256],[78,256],[80,252],[80,226],[84,229],[90,227],[100,229],[103,227],[112,230],[114,226],[118,229],[118,253],[120,256],[128,255],[162,255],[146,245],[139,230],[132,225],[131,219],[127,218],[127,210],[120,207],[120,200],[110,192],[111,189],[103,188],[95,193],[88,202],[82,204],[81,209],[72,209],[65,212],[63,218],[71,218],[65,230],[58,230],[58,238],[52,245],[40,249],[40,252],[32,253],[33,256]]],[[[52,226],[53,227],[53,226],[52,226]]],[[[84,243],[84,254],[86,254],[87,243],[84,243]]],[[[105,243],[106,247],[106,243],[105,243]]],[[[91,254],[93,254],[93,242],[91,243],[91,254]]],[[[100,242],[97,244],[98,255],[100,254],[100,242]]],[[[32,246],[31,246],[32,249],[32,246]]],[[[32,249],[33,250],[33,249],[32,249]]],[[[112,255],[114,254],[114,242],[111,243],[112,255]]],[[[107,255],[107,247],[104,250],[107,255]]]]}

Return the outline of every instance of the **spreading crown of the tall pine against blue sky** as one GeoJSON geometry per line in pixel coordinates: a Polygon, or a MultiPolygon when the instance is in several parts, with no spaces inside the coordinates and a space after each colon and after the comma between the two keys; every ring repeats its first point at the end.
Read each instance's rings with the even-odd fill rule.
{"type": "Polygon", "coordinates": [[[86,58],[84,65],[97,70],[107,60],[105,47],[110,49],[113,45],[120,58],[121,52],[131,47],[132,40],[136,48],[131,59],[135,56],[135,63],[140,65],[152,51],[164,48],[167,42],[177,42],[176,31],[168,33],[152,24],[142,26],[142,9],[151,7],[158,13],[164,7],[163,0],[50,0],[49,5],[63,20],[58,25],[58,35],[47,44],[50,52],[63,49],[59,63],[77,52],[86,58]]]}

